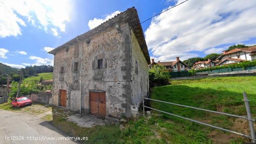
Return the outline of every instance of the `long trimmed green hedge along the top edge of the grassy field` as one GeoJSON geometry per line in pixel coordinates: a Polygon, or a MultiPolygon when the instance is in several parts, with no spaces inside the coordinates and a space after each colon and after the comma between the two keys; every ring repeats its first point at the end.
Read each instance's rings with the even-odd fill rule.
{"type": "Polygon", "coordinates": [[[252,67],[252,66],[256,66],[256,61],[252,61],[252,62],[244,61],[242,63],[237,63],[237,64],[209,67],[209,68],[198,69],[198,70],[191,69],[191,70],[189,70],[189,73],[195,74],[197,72],[202,72],[202,71],[211,71],[211,70],[226,69],[226,68],[243,68],[243,69],[245,69],[246,67],[252,67]]]}

